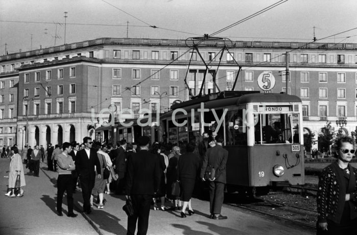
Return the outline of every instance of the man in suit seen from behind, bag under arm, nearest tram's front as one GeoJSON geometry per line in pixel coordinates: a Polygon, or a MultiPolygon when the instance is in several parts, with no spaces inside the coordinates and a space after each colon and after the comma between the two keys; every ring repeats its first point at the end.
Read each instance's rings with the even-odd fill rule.
{"type": "Polygon", "coordinates": [[[225,165],[228,159],[228,151],[222,147],[224,139],[222,136],[216,137],[216,145],[209,148],[203,160],[200,178],[205,181],[205,172],[208,165],[216,170],[215,178],[209,181],[210,186],[210,218],[216,220],[227,219],[221,215],[221,208],[224,199],[224,185],[226,183],[225,165]]]}

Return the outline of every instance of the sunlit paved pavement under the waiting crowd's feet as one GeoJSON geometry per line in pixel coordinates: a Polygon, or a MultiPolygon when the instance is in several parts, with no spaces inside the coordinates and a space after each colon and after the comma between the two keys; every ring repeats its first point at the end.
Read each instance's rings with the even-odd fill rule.
{"type": "MultiPolygon", "coordinates": [[[[4,164],[3,159],[1,159],[0,164],[4,164]]],[[[2,177],[7,175],[2,170],[4,167],[1,166],[0,168],[0,175],[2,177]]],[[[8,166],[6,169],[8,169],[8,166]]],[[[57,193],[55,186],[58,175],[56,172],[47,171],[46,169],[45,165],[41,164],[40,177],[25,175],[28,181],[27,186],[24,188],[24,197],[6,198],[3,196],[3,199],[0,200],[0,234],[126,234],[127,216],[122,211],[122,206],[125,203],[124,196],[105,194],[107,203],[104,209],[98,209],[94,204],[90,215],[82,213],[74,219],[66,216],[58,217],[55,214],[57,193]],[[36,186],[33,187],[33,185],[36,186]],[[16,201],[16,204],[9,204],[13,200],[16,201]],[[19,213],[13,213],[10,210],[14,206],[19,213]],[[27,207],[30,207],[30,209],[27,207]],[[51,223],[54,225],[50,225],[51,223]],[[65,226],[63,226],[64,224],[65,226]],[[13,232],[12,229],[17,230],[13,232]]],[[[4,193],[6,185],[7,179],[4,178],[0,184],[4,189],[4,193]]],[[[73,196],[74,206],[77,207],[75,211],[80,213],[83,201],[82,193],[77,192],[73,196]]],[[[212,220],[208,218],[208,201],[193,198],[192,206],[196,214],[187,215],[187,218],[181,218],[178,211],[151,210],[148,234],[315,234],[314,231],[296,225],[227,205],[223,205],[222,214],[228,216],[228,219],[212,220]]],[[[63,209],[67,210],[66,205],[63,206],[63,209]]]]}

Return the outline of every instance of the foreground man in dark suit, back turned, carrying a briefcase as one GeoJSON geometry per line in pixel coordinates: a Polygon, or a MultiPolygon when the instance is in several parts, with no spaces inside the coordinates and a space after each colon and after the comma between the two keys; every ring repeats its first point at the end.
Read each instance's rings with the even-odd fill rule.
{"type": "Polygon", "coordinates": [[[127,219],[127,234],[134,235],[138,221],[138,233],[145,235],[149,224],[150,204],[160,185],[159,158],[148,151],[150,138],[138,138],[140,150],[129,160],[126,175],[126,198],[131,198],[134,215],[127,219]]]}

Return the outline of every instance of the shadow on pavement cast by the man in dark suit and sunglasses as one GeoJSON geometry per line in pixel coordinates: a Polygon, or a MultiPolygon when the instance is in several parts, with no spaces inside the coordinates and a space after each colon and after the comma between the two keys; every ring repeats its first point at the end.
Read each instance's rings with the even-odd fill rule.
{"type": "Polygon", "coordinates": [[[106,211],[92,210],[88,217],[98,226],[99,229],[114,234],[126,234],[126,229],[119,224],[120,219],[106,211]]]}

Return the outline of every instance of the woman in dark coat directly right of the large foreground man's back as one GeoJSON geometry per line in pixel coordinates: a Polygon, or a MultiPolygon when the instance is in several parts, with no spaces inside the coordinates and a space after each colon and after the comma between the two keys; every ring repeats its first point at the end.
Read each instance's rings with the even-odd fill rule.
{"type": "Polygon", "coordinates": [[[156,198],[160,197],[161,200],[161,210],[165,211],[166,207],[165,207],[165,193],[166,193],[166,183],[165,183],[165,169],[166,169],[166,165],[165,165],[165,159],[164,156],[160,154],[161,152],[161,145],[156,143],[154,145],[152,145],[152,149],[151,149],[151,153],[154,153],[158,156],[159,160],[160,160],[160,167],[161,167],[161,179],[160,179],[160,186],[158,189],[158,192],[155,194],[154,196],[154,210],[158,210],[158,206],[156,204],[156,198]]]}

